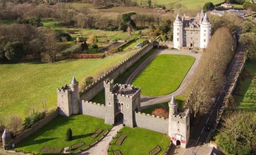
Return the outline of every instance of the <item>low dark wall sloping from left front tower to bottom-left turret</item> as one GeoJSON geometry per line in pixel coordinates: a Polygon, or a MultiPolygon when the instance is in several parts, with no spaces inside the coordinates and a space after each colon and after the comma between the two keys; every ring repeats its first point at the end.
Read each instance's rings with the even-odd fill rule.
{"type": "Polygon", "coordinates": [[[11,140],[10,144],[13,144],[13,143],[17,144],[20,141],[26,139],[27,137],[29,137],[30,135],[34,134],[34,132],[36,132],[42,126],[45,126],[47,123],[49,123],[51,120],[53,120],[57,116],[58,116],[58,110],[56,109],[53,112],[51,112],[50,114],[46,115],[45,118],[39,120],[34,125],[32,125],[31,128],[26,129],[25,131],[23,131],[23,133],[20,134],[18,137],[16,137],[15,139],[11,140]]]}

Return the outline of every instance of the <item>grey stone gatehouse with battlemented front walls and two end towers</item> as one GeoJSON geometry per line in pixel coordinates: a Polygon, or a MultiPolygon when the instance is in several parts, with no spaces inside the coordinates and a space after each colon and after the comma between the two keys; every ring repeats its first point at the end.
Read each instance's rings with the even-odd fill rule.
{"type": "Polygon", "coordinates": [[[129,127],[141,127],[164,134],[175,145],[186,148],[189,140],[189,110],[178,109],[173,96],[169,101],[169,118],[140,113],[140,88],[129,84],[114,84],[104,81],[105,104],[80,100],[78,82],[73,77],[70,85],[57,89],[59,115],[89,115],[105,120],[106,124],[123,123],[129,127]]]}

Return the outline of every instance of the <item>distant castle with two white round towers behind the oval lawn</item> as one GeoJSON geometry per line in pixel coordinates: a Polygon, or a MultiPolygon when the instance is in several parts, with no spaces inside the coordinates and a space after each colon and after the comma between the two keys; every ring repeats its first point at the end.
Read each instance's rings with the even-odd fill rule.
{"type": "Polygon", "coordinates": [[[207,14],[201,13],[197,17],[189,17],[185,14],[180,17],[179,13],[174,21],[174,48],[189,49],[207,47],[211,36],[211,24],[207,14]]]}

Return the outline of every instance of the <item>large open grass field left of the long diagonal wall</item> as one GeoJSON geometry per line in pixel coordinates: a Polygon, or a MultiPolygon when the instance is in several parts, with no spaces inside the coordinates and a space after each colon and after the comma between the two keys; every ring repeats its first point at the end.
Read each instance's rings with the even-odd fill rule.
{"type": "Polygon", "coordinates": [[[25,118],[32,109],[56,106],[56,89],[70,83],[74,75],[79,82],[83,77],[96,77],[121,62],[131,53],[104,59],[63,60],[54,63],[24,62],[0,64],[0,118],[16,114],[25,118]]]}

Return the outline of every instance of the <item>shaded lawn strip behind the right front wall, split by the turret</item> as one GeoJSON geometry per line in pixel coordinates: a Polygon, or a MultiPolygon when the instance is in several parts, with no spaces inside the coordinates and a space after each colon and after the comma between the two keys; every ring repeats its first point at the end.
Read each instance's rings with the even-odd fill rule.
{"type": "MultiPolygon", "coordinates": [[[[182,108],[183,107],[183,103],[186,100],[185,96],[177,96],[175,97],[175,100],[178,102],[178,108],[182,108]]],[[[166,112],[169,112],[169,105],[168,105],[169,101],[163,102],[163,103],[159,103],[159,104],[155,104],[153,106],[141,109],[142,113],[146,113],[146,114],[152,114],[152,112],[156,109],[156,108],[164,108],[166,110],[166,112]]]]}

